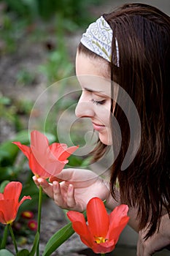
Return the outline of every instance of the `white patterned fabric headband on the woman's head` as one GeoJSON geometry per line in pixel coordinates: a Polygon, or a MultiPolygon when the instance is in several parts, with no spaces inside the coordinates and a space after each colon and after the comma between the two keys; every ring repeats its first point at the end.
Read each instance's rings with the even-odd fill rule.
{"type": "MultiPolygon", "coordinates": [[[[89,50],[97,55],[112,61],[112,29],[106,20],[101,16],[96,22],[91,23],[80,40],[89,50]]],[[[117,40],[115,41],[117,51],[117,66],[119,66],[119,51],[117,40]]]]}

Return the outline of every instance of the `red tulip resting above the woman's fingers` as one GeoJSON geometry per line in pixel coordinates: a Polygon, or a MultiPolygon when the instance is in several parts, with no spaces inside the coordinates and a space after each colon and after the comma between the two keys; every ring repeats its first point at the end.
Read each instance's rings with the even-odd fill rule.
{"type": "Polygon", "coordinates": [[[38,131],[31,132],[30,147],[20,142],[13,143],[28,158],[29,167],[34,175],[42,178],[50,178],[60,173],[64,165],[69,162],[67,158],[78,148],[78,146],[67,148],[63,143],[49,145],[47,137],[38,131]]]}

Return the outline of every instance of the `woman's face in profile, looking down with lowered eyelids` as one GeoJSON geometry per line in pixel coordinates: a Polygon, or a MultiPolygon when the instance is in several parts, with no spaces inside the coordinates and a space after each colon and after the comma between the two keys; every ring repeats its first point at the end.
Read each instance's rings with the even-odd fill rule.
{"type": "Polygon", "coordinates": [[[93,129],[98,131],[101,142],[105,145],[112,145],[112,129],[109,121],[111,89],[108,62],[77,53],[76,74],[82,87],[82,95],[75,110],[76,116],[90,118],[93,129]]]}

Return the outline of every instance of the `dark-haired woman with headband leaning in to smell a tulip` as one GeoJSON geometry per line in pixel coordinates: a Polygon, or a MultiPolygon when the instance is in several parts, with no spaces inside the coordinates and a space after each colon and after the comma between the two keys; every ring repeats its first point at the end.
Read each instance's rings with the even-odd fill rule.
{"type": "Polygon", "coordinates": [[[109,208],[128,204],[129,224],[139,231],[138,256],[152,255],[170,244],[169,67],[170,18],[155,7],[124,4],[90,24],[77,49],[82,96],[76,115],[90,118],[98,131],[94,161],[113,146],[117,157],[110,184],[90,170],[63,170],[52,184],[34,177],[62,208],[83,211],[93,196],[106,199],[109,208]],[[87,83],[84,75],[105,82],[87,83]],[[128,99],[135,105],[134,116],[128,99]],[[133,121],[136,131],[131,132],[133,121]]]}

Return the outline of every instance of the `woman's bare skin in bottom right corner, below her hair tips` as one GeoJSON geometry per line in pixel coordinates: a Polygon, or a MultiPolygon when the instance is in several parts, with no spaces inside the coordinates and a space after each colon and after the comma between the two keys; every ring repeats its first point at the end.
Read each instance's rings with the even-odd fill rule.
{"type": "Polygon", "coordinates": [[[165,214],[161,217],[161,225],[158,233],[144,240],[147,230],[139,231],[139,240],[137,244],[137,256],[150,256],[154,252],[161,251],[161,249],[170,245],[170,219],[169,215],[165,214]]]}

